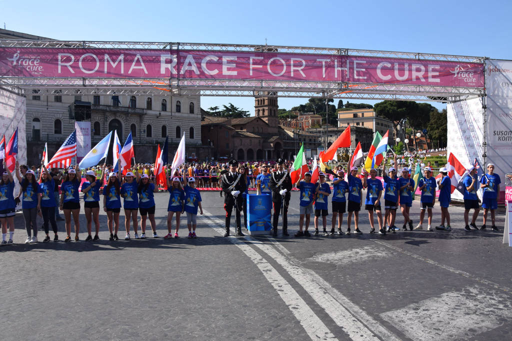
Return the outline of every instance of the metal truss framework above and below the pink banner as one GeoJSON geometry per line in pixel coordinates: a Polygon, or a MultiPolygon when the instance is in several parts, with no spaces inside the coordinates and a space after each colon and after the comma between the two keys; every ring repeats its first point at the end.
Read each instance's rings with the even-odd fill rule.
{"type": "MultiPolygon", "coordinates": [[[[183,42],[61,41],[0,39],[0,47],[66,48],[66,49],[152,49],[162,51],[196,50],[221,52],[280,52],[294,54],[326,54],[416,60],[485,63],[485,57],[414,52],[356,50],[270,45],[199,44],[183,42]]],[[[344,83],[318,81],[266,81],[186,78],[25,78],[0,75],[0,86],[18,92],[62,95],[166,95],[259,97],[272,93],[276,97],[319,97],[340,99],[457,101],[484,96],[484,88],[435,87],[430,85],[344,83]]]]}

